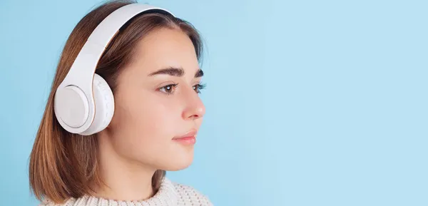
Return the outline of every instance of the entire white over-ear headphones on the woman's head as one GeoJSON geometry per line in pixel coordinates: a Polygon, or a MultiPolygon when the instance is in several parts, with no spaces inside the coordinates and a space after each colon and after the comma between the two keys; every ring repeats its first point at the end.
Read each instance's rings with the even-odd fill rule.
{"type": "MultiPolygon", "coordinates": [[[[66,78],[56,89],[54,111],[70,133],[92,135],[113,118],[114,98],[107,82],[95,73],[101,55],[123,24],[145,11],[170,11],[146,4],[128,4],[113,11],[93,30],[78,53],[66,78]]],[[[173,15],[173,14],[171,14],[173,15]]]]}

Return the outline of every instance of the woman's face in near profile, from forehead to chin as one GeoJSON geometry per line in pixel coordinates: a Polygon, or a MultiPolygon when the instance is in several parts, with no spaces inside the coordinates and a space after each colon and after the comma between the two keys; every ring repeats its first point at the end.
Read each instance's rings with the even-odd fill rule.
{"type": "Polygon", "coordinates": [[[118,76],[108,142],[131,162],[158,170],[187,168],[193,160],[190,137],[205,113],[193,43],[182,31],[159,29],[137,47],[118,76]]]}

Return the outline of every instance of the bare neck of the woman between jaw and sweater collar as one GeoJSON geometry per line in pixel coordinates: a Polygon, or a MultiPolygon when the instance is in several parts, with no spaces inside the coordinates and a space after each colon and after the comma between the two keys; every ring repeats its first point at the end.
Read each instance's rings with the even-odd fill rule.
{"type": "Polygon", "coordinates": [[[112,200],[146,200],[153,197],[149,168],[118,155],[109,143],[99,145],[99,172],[104,185],[96,187],[96,196],[112,200]]]}

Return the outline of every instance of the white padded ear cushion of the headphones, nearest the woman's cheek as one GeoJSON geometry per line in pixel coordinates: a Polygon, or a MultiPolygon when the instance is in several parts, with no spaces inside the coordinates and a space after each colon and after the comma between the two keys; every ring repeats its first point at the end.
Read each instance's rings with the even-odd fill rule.
{"type": "Polygon", "coordinates": [[[81,135],[92,135],[107,128],[114,113],[114,97],[108,83],[97,73],[93,76],[93,98],[95,101],[95,118],[88,130],[81,135]]]}

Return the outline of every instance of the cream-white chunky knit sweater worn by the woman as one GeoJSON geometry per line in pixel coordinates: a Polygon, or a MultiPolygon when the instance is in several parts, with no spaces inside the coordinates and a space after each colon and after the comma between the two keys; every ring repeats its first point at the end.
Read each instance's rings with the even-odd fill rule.
{"type": "Polygon", "coordinates": [[[180,185],[163,178],[156,194],[147,200],[121,201],[108,200],[102,197],[83,196],[71,198],[63,205],[55,205],[48,200],[39,206],[213,206],[208,197],[193,187],[180,185]]]}

